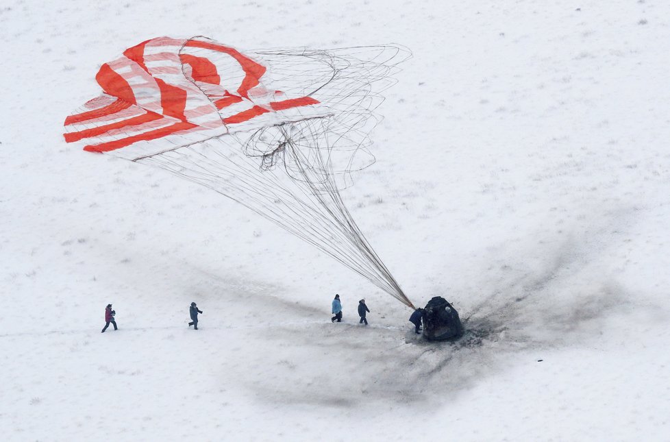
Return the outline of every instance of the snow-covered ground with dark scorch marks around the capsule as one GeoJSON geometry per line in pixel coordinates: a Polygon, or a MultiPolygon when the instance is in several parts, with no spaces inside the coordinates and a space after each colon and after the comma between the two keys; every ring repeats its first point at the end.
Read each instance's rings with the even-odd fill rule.
{"type": "Polygon", "coordinates": [[[657,0],[3,0],[1,439],[670,440],[669,22],[657,0]],[[243,206],[66,145],[99,65],[162,35],[408,47],[343,198],[410,299],[481,341],[425,343],[243,206]]]}

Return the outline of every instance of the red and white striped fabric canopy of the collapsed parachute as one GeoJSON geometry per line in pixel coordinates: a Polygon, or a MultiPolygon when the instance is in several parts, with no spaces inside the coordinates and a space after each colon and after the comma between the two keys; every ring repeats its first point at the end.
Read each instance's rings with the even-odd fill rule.
{"type": "Polygon", "coordinates": [[[65,140],[84,140],[87,151],[126,148],[114,154],[135,160],[162,151],[165,143],[146,143],[159,138],[196,143],[320,115],[316,99],[266,88],[266,71],[206,38],[147,40],[101,66],[104,93],[67,117],[65,140]]]}

